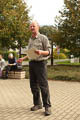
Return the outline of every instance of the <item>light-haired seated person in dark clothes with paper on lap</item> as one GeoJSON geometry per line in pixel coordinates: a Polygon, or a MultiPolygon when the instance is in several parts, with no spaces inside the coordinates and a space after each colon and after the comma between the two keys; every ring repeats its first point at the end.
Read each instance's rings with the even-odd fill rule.
{"type": "Polygon", "coordinates": [[[17,62],[12,53],[8,55],[8,65],[6,66],[6,78],[8,77],[9,71],[17,70],[17,62]]]}

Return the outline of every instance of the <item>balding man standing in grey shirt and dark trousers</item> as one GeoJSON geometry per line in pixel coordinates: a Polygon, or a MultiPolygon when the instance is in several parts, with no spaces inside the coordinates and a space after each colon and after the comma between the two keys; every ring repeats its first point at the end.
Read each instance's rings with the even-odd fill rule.
{"type": "MultiPolygon", "coordinates": [[[[36,48],[36,54],[39,56],[35,60],[29,61],[30,87],[33,94],[33,104],[31,111],[42,109],[40,99],[40,90],[42,95],[43,107],[45,107],[45,115],[51,114],[51,102],[49,86],[47,81],[47,59],[51,53],[49,40],[45,35],[39,33],[39,25],[37,22],[30,24],[32,36],[29,40],[28,49],[36,48]]],[[[27,56],[21,58],[23,61],[27,56]]]]}

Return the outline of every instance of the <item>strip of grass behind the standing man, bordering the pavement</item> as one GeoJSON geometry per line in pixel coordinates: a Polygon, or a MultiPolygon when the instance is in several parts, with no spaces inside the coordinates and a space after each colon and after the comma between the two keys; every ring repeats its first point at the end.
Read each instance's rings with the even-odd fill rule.
{"type": "MultiPolygon", "coordinates": [[[[29,78],[29,67],[25,66],[26,78],[29,78]]],[[[48,66],[49,80],[80,81],[80,66],[77,65],[54,65],[48,66]]]]}

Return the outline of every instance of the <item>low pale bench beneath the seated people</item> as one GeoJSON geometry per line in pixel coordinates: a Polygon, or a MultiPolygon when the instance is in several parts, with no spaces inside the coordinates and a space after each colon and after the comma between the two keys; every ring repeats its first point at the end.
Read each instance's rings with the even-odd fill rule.
{"type": "MultiPolygon", "coordinates": [[[[9,71],[8,78],[9,79],[24,79],[25,78],[25,71],[9,71]]],[[[2,74],[3,78],[5,78],[5,71],[2,74]]]]}

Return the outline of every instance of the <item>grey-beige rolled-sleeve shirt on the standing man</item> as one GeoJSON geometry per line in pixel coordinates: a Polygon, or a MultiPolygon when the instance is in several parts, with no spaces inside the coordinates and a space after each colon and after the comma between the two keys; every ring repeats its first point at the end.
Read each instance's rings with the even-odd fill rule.
{"type": "MultiPolygon", "coordinates": [[[[29,39],[28,49],[31,49],[31,48],[36,48],[38,50],[43,50],[43,51],[49,51],[49,53],[51,54],[51,46],[48,38],[45,35],[40,33],[38,33],[35,39],[33,38],[29,39]]],[[[37,61],[47,60],[50,54],[47,56],[40,55],[36,60],[37,61]]]]}

